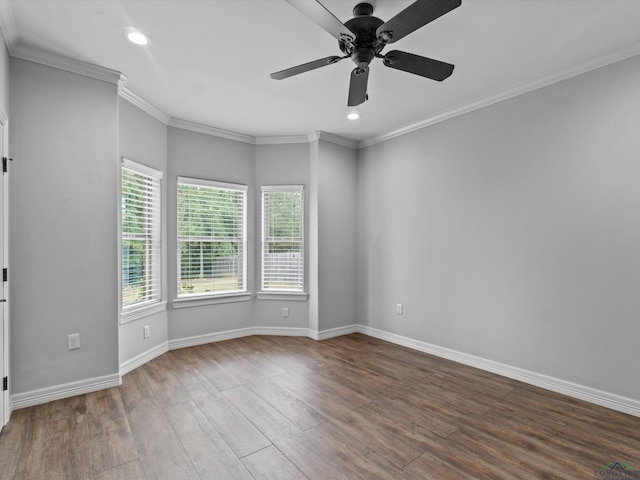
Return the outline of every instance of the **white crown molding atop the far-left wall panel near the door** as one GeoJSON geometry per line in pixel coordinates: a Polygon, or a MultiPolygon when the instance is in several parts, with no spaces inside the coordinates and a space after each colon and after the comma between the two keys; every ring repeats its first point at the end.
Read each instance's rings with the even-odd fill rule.
{"type": "MultiPolygon", "coordinates": [[[[1,3],[1,2],[0,2],[1,3]]],[[[85,77],[102,80],[103,82],[112,83],[119,88],[126,81],[126,76],[121,72],[110,68],[101,67],[92,63],[83,62],[74,58],[58,55],[53,52],[46,52],[37,48],[28,47],[26,45],[17,45],[11,49],[12,57],[20,58],[30,62],[40,63],[49,67],[65,70],[67,72],[76,73],[85,77]]]]}

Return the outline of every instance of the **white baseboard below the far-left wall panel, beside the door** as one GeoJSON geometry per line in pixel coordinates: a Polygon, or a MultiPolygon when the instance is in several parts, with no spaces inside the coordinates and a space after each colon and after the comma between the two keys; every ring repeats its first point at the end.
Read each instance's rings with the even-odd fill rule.
{"type": "Polygon", "coordinates": [[[85,393],[97,392],[98,390],[104,390],[106,388],[118,387],[121,384],[122,380],[120,375],[118,373],[112,373],[110,375],[103,375],[102,377],[86,378],[76,382],[17,393],[11,395],[11,411],[40,405],[53,400],[61,400],[85,393]]]}

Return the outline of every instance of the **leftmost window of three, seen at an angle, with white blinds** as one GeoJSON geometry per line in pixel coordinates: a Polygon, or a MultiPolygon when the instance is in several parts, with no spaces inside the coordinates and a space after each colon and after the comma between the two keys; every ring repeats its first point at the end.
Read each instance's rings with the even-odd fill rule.
{"type": "Polygon", "coordinates": [[[122,159],[122,311],[162,297],[162,172],[122,159]]]}

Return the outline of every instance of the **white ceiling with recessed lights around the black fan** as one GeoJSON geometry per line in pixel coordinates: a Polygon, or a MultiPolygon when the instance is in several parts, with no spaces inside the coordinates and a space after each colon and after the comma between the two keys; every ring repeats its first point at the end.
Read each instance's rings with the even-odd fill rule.
{"type": "MultiPolygon", "coordinates": [[[[343,22],[359,3],[321,1],[343,22]]],[[[382,20],[412,3],[369,1],[382,20]]],[[[640,53],[638,0],[462,0],[392,47],[453,63],[453,75],[434,82],[376,59],[353,122],[350,60],[269,77],[340,54],[285,0],[0,0],[0,16],[12,54],[36,49],[122,72],[167,118],[252,137],[324,131],[360,145],[640,53]],[[128,43],[127,27],[152,45],[128,43]]]]}

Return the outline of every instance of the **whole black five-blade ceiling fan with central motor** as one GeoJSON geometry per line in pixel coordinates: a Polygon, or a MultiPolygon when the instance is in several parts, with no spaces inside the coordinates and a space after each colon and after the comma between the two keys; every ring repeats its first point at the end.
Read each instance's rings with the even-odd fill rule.
{"type": "Polygon", "coordinates": [[[271,74],[271,78],[284,78],[308,72],[316,68],[333,65],[351,58],[356,68],[351,72],[349,84],[350,107],[360,105],[368,99],[369,63],[381,58],[385,66],[403,70],[441,82],[453,73],[454,65],[413,53],[391,50],[382,55],[388,43],[394,43],[436,18],[457,8],[462,0],[417,0],[388,22],[373,15],[370,3],[359,3],[353,9],[354,18],[342,23],[318,0],[286,0],[338,40],[344,56],[330,56],[287,68],[271,74]]]}

